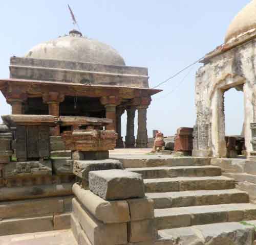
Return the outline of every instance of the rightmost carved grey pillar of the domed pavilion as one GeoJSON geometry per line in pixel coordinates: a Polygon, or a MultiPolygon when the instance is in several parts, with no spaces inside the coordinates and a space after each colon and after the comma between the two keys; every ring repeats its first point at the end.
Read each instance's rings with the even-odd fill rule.
{"type": "Polygon", "coordinates": [[[147,148],[146,109],[147,106],[138,106],[138,133],[137,148],[147,148]]]}

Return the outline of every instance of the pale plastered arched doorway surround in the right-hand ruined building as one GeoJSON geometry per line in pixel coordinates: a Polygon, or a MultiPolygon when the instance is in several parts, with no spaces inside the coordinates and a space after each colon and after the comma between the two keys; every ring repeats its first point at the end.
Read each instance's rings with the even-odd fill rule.
{"type": "MultiPolygon", "coordinates": [[[[210,135],[211,147],[215,157],[226,157],[226,141],[225,141],[225,115],[224,115],[224,93],[231,89],[237,88],[244,91],[244,122],[245,122],[245,142],[250,147],[250,129],[248,125],[252,121],[251,112],[253,107],[251,104],[251,89],[248,89],[246,80],[241,76],[228,75],[225,79],[215,83],[210,91],[210,135]]],[[[249,86],[250,88],[250,86],[249,86]]]]}

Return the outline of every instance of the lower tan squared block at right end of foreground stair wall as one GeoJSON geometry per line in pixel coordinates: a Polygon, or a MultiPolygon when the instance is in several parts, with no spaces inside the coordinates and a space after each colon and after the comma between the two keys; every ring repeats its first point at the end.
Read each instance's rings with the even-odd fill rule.
{"type": "Polygon", "coordinates": [[[128,236],[130,242],[153,241],[154,220],[145,219],[128,223],[128,236]]]}

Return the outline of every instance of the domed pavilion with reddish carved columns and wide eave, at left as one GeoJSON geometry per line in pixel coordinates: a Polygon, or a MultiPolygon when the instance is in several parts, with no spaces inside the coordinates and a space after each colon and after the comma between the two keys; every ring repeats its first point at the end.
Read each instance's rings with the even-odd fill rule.
{"type": "MultiPolygon", "coordinates": [[[[109,45],[72,30],[33,47],[25,57],[12,57],[10,78],[0,89],[12,106],[12,114],[90,116],[112,119],[107,129],[121,138],[121,115],[127,111],[126,146],[147,145],[146,110],[151,96],[160,90],[148,86],[147,68],[125,66],[109,45]],[[134,117],[138,111],[135,142],[134,117]]],[[[56,126],[52,135],[63,129],[56,126]]]]}

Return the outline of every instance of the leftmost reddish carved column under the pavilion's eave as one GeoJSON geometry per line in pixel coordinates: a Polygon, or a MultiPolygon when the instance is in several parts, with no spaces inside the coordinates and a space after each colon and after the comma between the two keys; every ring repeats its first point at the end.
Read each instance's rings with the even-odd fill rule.
{"type": "Polygon", "coordinates": [[[27,100],[27,94],[25,93],[13,93],[7,95],[7,103],[12,107],[12,114],[21,115],[24,114],[24,102],[27,100]]]}

